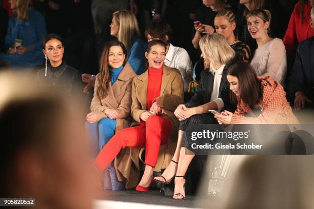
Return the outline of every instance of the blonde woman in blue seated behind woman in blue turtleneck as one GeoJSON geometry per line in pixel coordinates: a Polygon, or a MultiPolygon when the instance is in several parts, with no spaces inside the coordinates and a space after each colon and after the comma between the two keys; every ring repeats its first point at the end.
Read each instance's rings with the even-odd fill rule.
{"type": "MultiPolygon", "coordinates": [[[[136,75],[142,74],[146,70],[145,50],[147,44],[140,38],[140,29],[136,16],[128,10],[119,10],[112,14],[110,25],[110,35],[121,41],[128,51],[127,61],[131,65],[136,75]]],[[[95,77],[83,74],[82,79],[88,82],[84,91],[94,86],[95,77]]]]}

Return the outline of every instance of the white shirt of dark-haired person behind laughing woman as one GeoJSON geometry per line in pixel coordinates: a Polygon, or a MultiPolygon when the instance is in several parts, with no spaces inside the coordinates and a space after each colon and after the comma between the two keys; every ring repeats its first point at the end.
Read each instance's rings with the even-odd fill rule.
{"type": "Polygon", "coordinates": [[[176,68],[180,71],[184,81],[184,91],[187,92],[189,83],[193,80],[192,61],[187,51],[181,47],[174,47],[170,44],[164,64],[170,68],[176,68]]]}

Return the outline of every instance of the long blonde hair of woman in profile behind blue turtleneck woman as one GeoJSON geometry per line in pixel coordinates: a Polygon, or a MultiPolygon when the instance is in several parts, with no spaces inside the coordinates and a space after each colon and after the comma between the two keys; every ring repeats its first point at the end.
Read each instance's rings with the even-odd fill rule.
{"type": "Polygon", "coordinates": [[[140,37],[138,20],[135,15],[128,10],[116,11],[112,16],[119,25],[117,39],[124,44],[126,50],[129,52],[132,47],[133,37],[135,35],[140,37]]]}

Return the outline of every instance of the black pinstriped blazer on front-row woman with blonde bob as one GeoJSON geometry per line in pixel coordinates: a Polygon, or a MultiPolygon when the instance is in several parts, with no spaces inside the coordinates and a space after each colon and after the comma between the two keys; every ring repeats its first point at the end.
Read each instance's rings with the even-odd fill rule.
{"type": "MultiPolygon", "coordinates": [[[[219,86],[219,95],[218,98],[222,98],[224,101],[225,107],[223,110],[228,110],[234,112],[237,108],[234,103],[230,101],[230,85],[227,80],[227,72],[229,67],[238,61],[238,58],[234,57],[229,63],[224,67],[223,74],[221,77],[221,82],[219,86]]],[[[197,92],[194,93],[190,101],[186,103],[186,107],[192,108],[200,105],[204,105],[207,102],[210,102],[211,91],[213,88],[214,75],[209,70],[203,70],[201,72],[201,81],[197,88],[197,92]]]]}

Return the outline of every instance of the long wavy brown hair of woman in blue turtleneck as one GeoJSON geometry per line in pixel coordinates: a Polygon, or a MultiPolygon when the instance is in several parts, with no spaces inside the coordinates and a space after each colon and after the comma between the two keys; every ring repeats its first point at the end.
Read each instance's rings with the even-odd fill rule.
{"type": "Polygon", "coordinates": [[[97,76],[97,79],[99,79],[99,82],[100,82],[100,86],[97,90],[97,95],[100,98],[105,98],[108,94],[109,82],[111,79],[110,72],[109,72],[108,56],[109,56],[109,49],[110,49],[110,47],[113,47],[113,46],[120,46],[122,48],[122,51],[125,54],[123,66],[127,62],[127,56],[128,56],[127,50],[121,41],[111,40],[104,46],[102,57],[100,60],[99,76],[97,76]]]}

